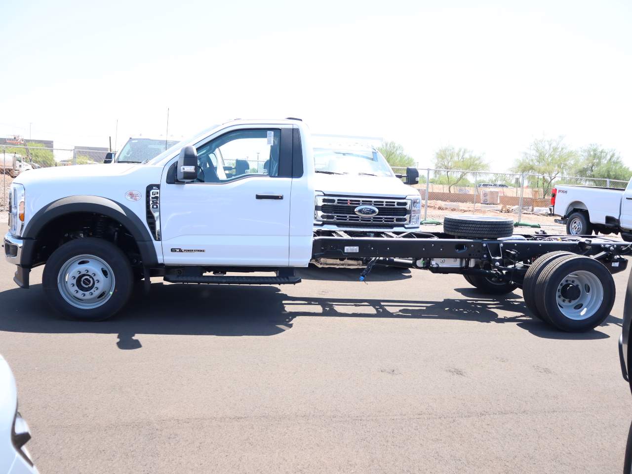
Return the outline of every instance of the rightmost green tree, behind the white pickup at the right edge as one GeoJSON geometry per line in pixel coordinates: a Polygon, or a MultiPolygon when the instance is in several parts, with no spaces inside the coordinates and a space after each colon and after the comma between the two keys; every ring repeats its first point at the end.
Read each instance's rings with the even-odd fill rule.
{"type": "Polygon", "coordinates": [[[623,164],[616,150],[606,150],[594,143],[580,150],[573,162],[573,176],[582,178],[610,178],[628,181],[632,170],[623,164]]]}

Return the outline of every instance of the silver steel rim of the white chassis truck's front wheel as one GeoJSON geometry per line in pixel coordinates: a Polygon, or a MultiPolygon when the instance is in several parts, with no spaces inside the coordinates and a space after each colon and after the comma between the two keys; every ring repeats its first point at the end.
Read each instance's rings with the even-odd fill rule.
{"type": "Polygon", "coordinates": [[[114,293],[110,265],[94,255],[78,255],[61,265],[59,294],[75,308],[91,309],[106,303],[114,293]]]}

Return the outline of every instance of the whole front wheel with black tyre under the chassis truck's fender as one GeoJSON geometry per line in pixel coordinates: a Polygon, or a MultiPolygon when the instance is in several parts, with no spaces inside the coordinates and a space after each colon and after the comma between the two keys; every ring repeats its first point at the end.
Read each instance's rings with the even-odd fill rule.
{"type": "Polygon", "coordinates": [[[46,262],[42,286],[51,306],[74,320],[100,321],[118,312],[133,288],[130,261],[98,238],[64,243],[46,262]]]}

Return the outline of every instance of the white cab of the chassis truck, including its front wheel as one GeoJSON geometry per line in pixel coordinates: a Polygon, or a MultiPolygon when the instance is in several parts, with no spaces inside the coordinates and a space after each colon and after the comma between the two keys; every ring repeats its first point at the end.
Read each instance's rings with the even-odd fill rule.
{"type": "Polygon", "coordinates": [[[118,310],[135,279],[186,277],[193,267],[198,274],[305,267],[314,205],[309,140],[298,120],[238,120],[146,164],[20,175],[4,238],[15,281],[28,288],[30,269],[45,264],[52,304],[99,319],[118,310]],[[244,166],[257,154],[265,166],[244,166]]]}

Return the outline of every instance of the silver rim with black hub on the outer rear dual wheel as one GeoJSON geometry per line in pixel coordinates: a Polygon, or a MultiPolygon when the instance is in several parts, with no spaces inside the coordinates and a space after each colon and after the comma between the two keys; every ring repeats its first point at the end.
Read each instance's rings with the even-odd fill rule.
{"type": "Polygon", "coordinates": [[[562,278],[556,298],[557,307],[567,318],[588,319],[604,301],[604,286],[595,274],[578,270],[562,278]]]}

